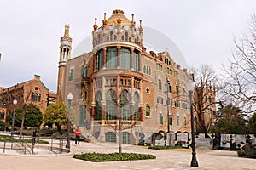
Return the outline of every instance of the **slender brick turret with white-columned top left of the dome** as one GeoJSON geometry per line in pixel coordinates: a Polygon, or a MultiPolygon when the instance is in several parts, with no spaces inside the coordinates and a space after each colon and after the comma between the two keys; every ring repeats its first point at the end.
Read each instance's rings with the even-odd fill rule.
{"type": "Polygon", "coordinates": [[[57,101],[62,101],[62,88],[64,85],[65,69],[67,60],[70,59],[72,38],[69,37],[69,25],[65,25],[64,36],[61,37],[60,59],[59,59],[59,73],[57,86],[57,101]]]}

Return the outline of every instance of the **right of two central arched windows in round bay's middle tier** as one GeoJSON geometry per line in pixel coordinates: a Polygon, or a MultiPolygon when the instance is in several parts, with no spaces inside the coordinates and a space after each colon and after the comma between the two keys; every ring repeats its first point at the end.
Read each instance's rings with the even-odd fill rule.
{"type": "Polygon", "coordinates": [[[122,120],[131,120],[131,110],[130,110],[130,94],[128,91],[123,90],[120,95],[120,113],[122,120]]]}

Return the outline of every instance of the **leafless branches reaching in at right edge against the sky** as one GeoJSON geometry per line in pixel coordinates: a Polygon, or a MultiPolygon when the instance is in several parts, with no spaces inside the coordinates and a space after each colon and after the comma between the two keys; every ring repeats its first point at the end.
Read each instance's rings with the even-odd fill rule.
{"type": "Polygon", "coordinates": [[[223,65],[223,99],[235,103],[245,113],[256,111],[256,15],[248,33],[239,41],[236,39],[233,58],[223,65]]]}

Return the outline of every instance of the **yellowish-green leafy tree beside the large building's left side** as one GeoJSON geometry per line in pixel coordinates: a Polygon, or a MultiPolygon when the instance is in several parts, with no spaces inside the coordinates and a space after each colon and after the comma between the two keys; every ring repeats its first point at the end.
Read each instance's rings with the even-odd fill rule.
{"type": "Polygon", "coordinates": [[[63,102],[58,102],[47,107],[44,115],[44,123],[45,125],[49,125],[49,127],[55,124],[61,133],[61,126],[67,124],[67,118],[67,111],[63,102]]]}

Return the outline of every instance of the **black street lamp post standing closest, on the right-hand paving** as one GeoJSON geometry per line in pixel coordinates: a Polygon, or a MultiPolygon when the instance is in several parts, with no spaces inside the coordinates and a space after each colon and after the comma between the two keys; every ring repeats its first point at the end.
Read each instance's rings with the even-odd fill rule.
{"type": "Polygon", "coordinates": [[[189,90],[189,101],[190,101],[190,114],[191,114],[191,131],[192,131],[192,161],[190,167],[198,167],[198,162],[196,161],[196,152],[195,152],[195,129],[194,129],[194,115],[193,115],[193,83],[188,83],[189,90]]]}

